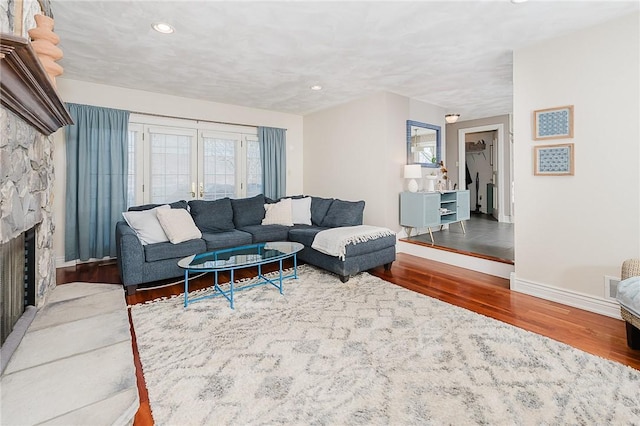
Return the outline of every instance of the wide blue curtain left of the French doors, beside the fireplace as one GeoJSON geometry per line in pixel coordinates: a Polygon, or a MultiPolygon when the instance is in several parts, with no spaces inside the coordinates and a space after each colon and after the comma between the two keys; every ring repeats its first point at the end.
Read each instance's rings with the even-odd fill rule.
{"type": "Polygon", "coordinates": [[[127,205],[129,111],[67,104],[65,260],[116,256],[127,205]]]}

